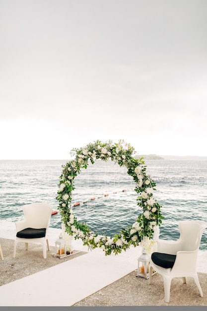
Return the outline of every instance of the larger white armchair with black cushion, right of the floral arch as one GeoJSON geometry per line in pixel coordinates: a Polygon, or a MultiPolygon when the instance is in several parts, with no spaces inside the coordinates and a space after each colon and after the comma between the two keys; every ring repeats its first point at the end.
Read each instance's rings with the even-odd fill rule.
{"type": "Polygon", "coordinates": [[[157,252],[152,253],[149,264],[149,284],[153,270],[162,275],[166,303],[169,303],[171,281],[175,277],[181,277],[183,283],[186,283],[186,277],[194,278],[203,297],[197,274],[197,256],[207,223],[199,220],[180,221],[178,228],[180,237],[177,241],[158,240],[157,252]]]}

